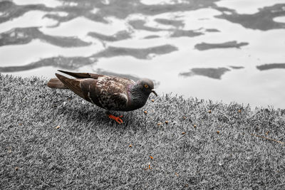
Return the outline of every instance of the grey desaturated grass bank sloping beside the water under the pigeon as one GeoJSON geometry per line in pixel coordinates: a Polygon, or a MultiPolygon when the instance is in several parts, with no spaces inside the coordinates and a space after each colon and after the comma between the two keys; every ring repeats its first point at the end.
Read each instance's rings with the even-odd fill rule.
{"type": "Polygon", "coordinates": [[[284,110],[164,95],[118,125],[46,82],[0,75],[0,189],[285,187],[284,110]]]}

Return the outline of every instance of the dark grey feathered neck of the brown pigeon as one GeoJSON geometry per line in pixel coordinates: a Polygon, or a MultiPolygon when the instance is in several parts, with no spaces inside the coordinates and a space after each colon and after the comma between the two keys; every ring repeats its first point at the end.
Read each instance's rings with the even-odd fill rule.
{"type": "Polygon", "coordinates": [[[131,105],[133,109],[138,109],[145,105],[145,102],[147,102],[148,95],[142,93],[142,90],[140,90],[137,84],[130,87],[129,92],[130,92],[131,105]]]}

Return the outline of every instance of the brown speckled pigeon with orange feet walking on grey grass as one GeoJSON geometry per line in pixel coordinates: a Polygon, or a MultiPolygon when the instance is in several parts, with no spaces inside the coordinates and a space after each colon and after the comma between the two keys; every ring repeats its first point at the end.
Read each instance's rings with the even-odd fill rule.
{"type": "Polygon", "coordinates": [[[48,81],[49,88],[72,90],[84,100],[105,109],[108,117],[119,124],[123,123],[121,119],[123,115],[116,117],[110,111],[137,110],[145,105],[150,93],[157,96],[152,80],[147,78],[142,78],[135,83],[133,80],[118,76],[58,71],[74,78],[56,73],[57,78],[51,78],[48,81]]]}

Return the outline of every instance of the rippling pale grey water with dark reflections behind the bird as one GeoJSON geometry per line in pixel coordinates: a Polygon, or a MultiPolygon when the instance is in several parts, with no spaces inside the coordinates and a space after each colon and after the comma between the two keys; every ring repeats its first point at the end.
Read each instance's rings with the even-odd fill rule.
{"type": "Polygon", "coordinates": [[[285,108],[285,0],[0,1],[0,72],[155,80],[157,92],[285,108]]]}

